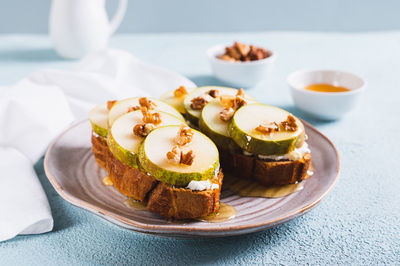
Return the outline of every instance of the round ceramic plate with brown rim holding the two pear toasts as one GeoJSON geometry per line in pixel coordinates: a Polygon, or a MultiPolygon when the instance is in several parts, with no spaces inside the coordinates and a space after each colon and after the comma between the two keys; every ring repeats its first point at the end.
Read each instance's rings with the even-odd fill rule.
{"type": "Polygon", "coordinates": [[[46,153],[44,167],[56,191],[71,204],[93,212],[124,228],[173,237],[222,237],[264,230],[294,219],[314,207],[334,186],[339,174],[339,155],[332,142],[308,123],[314,175],[304,188],[282,198],[240,197],[223,191],[221,201],[234,206],[234,219],[208,223],[168,222],[147,210],[133,210],[126,197],[102,184],[106,171],[97,166],[91,150],[89,121],[71,126],[46,153]]]}

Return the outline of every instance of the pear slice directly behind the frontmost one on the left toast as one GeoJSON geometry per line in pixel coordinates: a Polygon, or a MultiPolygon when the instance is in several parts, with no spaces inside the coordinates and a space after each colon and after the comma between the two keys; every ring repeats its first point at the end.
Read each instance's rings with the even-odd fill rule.
{"type": "MultiPolygon", "coordinates": [[[[155,112],[155,111],[151,111],[155,112]]],[[[161,123],[156,127],[167,125],[185,125],[185,123],[169,113],[157,111],[161,116],[161,123]]],[[[131,166],[138,167],[137,154],[143,137],[133,133],[133,127],[143,123],[143,115],[140,110],[129,112],[117,118],[109,130],[107,144],[113,155],[121,162],[131,166]]]]}

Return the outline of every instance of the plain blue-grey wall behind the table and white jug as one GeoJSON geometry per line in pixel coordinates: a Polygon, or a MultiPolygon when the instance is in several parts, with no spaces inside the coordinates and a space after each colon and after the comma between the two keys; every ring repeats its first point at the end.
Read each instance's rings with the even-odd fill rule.
{"type": "MultiPolygon", "coordinates": [[[[2,0],[0,33],[46,33],[50,4],[2,0]]],[[[398,0],[129,0],[119,32],[393,30],[399,11],[398,0]]]]}

